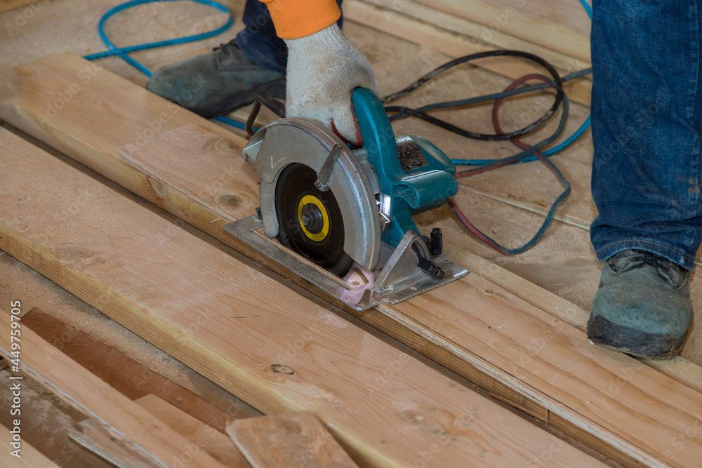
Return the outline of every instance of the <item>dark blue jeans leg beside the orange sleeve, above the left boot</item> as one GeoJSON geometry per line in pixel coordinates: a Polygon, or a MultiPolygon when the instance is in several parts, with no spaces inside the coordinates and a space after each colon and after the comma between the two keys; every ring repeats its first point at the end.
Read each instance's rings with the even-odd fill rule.
{"type": "MultiPolygon", "coordinates": [[[[336,0],[341,6],[343,0],[336,0]]],[[[246,0],[244,6],[244,29],[237,34],[237,45],[247,58],[260,67],[274,72],[285,72],[288,66],[288,48],[275,34],[268,7],[262,1],[246,0]]],[[[343,24],[343,16],[336,22],[343,24]]]]}

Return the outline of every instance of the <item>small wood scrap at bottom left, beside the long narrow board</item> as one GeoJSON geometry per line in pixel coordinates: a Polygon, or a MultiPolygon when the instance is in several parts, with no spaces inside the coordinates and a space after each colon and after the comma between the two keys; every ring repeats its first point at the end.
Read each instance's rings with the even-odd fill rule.
{"type": "Polygon", "coordinates": [[[79,446],[117,468],[159,467],[129,443],[110,434],[109,430],[92,418],[68,427],[68,436],[79,446]]]}

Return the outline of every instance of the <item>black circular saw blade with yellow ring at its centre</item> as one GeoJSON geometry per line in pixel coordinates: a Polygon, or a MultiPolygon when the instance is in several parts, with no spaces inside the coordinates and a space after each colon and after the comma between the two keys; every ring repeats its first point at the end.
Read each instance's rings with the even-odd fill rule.
{"type": "Polygon", "coordinates": [[[344,276],[354,261],[344,252],[344,220],[333,192],[314,186],[317,173],[293,163],[275,187],[278,240],[331,274],[344,276]]]}

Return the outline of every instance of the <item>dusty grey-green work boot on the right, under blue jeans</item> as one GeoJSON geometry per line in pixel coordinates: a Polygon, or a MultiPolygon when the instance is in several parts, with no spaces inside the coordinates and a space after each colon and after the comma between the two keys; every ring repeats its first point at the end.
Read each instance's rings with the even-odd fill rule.
{"type": "Polygon", "coordinates": [[[624,250],[604,265],[588,338],[635,356],[673,356],[693,314],[686,269],[655,253],[624,250]]]}

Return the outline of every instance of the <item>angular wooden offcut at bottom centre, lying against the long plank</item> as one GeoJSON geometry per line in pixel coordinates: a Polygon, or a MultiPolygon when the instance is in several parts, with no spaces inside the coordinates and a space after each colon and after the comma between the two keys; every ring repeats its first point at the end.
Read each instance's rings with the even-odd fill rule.
{"type": "Polygon", "coordinates": [[[227,434],[254,468],[357,467],[309,411],[236,420],[227,434]]]}

